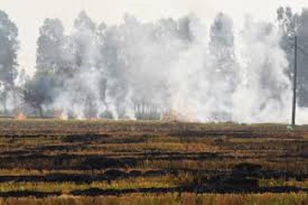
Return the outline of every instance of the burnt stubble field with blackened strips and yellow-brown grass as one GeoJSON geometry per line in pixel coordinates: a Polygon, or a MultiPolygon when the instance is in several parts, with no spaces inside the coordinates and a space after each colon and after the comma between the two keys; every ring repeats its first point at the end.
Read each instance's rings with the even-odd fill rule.
{"type": "Polygon", "coordinates": [[[308,204],[308,126],[0,119],[0,204],[308,204]]]}

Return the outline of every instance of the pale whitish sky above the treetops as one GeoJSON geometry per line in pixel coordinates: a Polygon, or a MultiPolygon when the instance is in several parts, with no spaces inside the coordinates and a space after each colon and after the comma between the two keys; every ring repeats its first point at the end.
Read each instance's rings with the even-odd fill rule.
{"type": "Polygon", "coordinates": [[[272,21],[280,5],[299,11],[308,7],[308,0],[0,0],[0,10],[7,12],[19,29],[18,63],[28,73],[35,71],[38,30],[47,17],[60,18],[69,33],[81,10],[97,23],[120,24],[125,13],[144,22],[194,13],[208,25],[220,11],[235,22],[245,14],[272,21]]]}

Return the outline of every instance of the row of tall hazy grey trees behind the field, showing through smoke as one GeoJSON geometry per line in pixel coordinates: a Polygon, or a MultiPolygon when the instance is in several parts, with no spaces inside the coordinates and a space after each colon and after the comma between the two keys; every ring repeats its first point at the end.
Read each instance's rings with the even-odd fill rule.
{"type": "MultiPolygon", "coordinates": [[[[299,44],[303,48],[308,46],[308,10],[297,14],[291,8],[280,7],[276,22],[281,31],[280,46],[289,65],[285,72],[291,78],[294,55],[290,42],[298,35],[299,44]]],[[[29,68],[18,68],[18,28],[0,10],[2,113],[22,111],[48,116],[59,108],[71,116],[81,112],[85,118],[159,118],[160,108],[169,103],[165,99],[172,92],[168,89],[170,82],[164,78],[172,63],[169,59],[178,60],[178,51],[187,49],[196,35],[202,33],[192,26],[199,23],[193,15],[141,23],[126,14],[123,24],[108,26],[95,23],[81,11],[74,20],[73,32],[66,34],[60,19],[46,18],[37,39],[35,73],[27,76],[25,69],[29,68]],[[157,72],[148,73],[149,69],[157,72]],[[133,113],[127,111],[128,106],[133,113]]],[[[264,29],[265,34],[266,29],[270,32],[271,25],[264,29]]],[[[217,59],[215,67],[225,73],[230,82],[228,90],[232,92],[237,84],[237,75],[230,69],[236,66],[233,21],[219,13],[209,31],[208,46],[217,59]]],[[[308,56],[300,54],[299,104],[302,107],[308,106],[306,63],[308,56]]],[[[267,83],[271,82],[264,79],[264,85],[267,83]]]]}

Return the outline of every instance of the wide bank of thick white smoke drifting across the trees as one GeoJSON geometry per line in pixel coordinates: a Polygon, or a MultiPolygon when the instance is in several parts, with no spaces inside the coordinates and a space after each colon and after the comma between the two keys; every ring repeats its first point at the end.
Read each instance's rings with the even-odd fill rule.
{"type": "Polygon", "coordinates": [[[208,26],[194,15],[154,23],[126,15],[121,25],[94,27],[70,36],[83,54],[53,103],[67,114],[91,118],[108,111],[136,119],[174,112],[180,120],[240,122],[290,117],[291,81],[276,25],[252,17],[235,25],[225,14],[208,26]]]}

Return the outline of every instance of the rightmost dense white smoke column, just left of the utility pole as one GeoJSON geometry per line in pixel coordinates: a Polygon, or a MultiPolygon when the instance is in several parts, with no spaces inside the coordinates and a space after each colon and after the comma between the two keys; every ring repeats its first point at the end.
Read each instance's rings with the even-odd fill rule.
{"type": "Polygon", "coordinates": [[[240,82],[233,95],[236,118],[254,122],[287,121],[292,92],[277,28],[246,18],[239,37],[240,82]]]}

